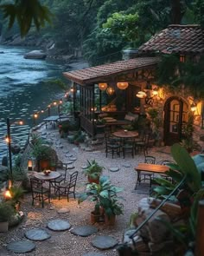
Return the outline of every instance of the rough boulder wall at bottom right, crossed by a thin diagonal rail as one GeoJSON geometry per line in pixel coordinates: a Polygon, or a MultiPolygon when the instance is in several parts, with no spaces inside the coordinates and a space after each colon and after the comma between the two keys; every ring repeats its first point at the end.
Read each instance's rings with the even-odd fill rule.
{"type": "MultiPolygon", "coordinates": [[[[150,220],[135,233],[133,240],[130,239],[131,233],[137,226],[143,223],[160,204],[160,200],[154,198],[143,198],[138,203],[138,213],[134,221],[134,226],[124,233],[124,244],[131,249],[137,250],[139,255],[178,255],[174,237],[165,223],[174,226],[181,224],[182,209],[180,206],[166,202],[150,220]],[[162,220],[162,221],[161,221],[162,220]],[[161,254],[161,253],[164,254],[161,254]],[[172,252],[172,253],[170,253],[172,252]],[[168,253],[168,254],[165,254],[168,253]]],[[[133,254],[130,254],[133,255],[133,254]]]]}

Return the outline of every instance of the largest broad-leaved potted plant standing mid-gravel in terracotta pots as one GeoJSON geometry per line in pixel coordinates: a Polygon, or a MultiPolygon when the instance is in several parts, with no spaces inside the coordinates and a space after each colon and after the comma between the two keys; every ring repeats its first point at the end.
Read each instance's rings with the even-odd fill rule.
{"type": "Polygon", "coordinates": [[[95,202],[94,210],[91,212],[91,223],[104,221],[105,214],[111,216],[123,213],[122,204],[119,205],[118,203],[118,193],[122,190],[122,188],[112,185],[107,176],[100,176],[99,184],[88,184],[86,186],[86,192],[80,194],[78,202],[80,204],[86,199],[95,202]],[[121,207],[121,211],[118,210],[119,206],[121,207]]]}

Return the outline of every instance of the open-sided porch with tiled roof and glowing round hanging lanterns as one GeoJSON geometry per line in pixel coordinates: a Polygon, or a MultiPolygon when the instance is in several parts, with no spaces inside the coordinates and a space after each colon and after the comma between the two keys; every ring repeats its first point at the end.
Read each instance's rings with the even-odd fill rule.
{"type": "Polygon", "coordinates": [[[125,123],[128,113],[143,115],[152,95],[136,95],[154,82],[158,62],[158,57],[137,57],[63,73],[73,82],[73,112],[80,115],[80,127],[93,136],[101,114],[116,124],[125,123]]]}

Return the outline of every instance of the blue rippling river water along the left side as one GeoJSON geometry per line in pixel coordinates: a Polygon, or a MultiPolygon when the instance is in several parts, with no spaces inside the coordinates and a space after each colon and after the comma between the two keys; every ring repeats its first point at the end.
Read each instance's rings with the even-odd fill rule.
{"type": "MultiPolygon", "coordinates": [[[[30,50],[0,46],[0,160],[6,148],[6,118],[10,117],[11,122],[23,120],[24,125],[19,128],[22,142],[23,135],[34,125],[33,114],[40,113],[64,94],[58,85],[48,81],[63,79],[65,66],[59,62],[24,59],[23,55],[30,50]]],[[[56,109],[51,108],[51,115],[55,113],[56,109]]],[[[46,117],[43,115],[37,123],[46,117]]],[[[11,130],[12,133],[18,134],[16,130],[11,130]]],[[[17,137],[16,143],[19,142],[17,137]]]]}

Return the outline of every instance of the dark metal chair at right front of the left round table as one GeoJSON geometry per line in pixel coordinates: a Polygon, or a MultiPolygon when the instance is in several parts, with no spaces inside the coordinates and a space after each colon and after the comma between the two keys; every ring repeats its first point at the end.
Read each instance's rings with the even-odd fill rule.
{"type": "Polygon", "coordinates": [[[55,185],[55,193],[58,194],[59,200],[61,199],[61,195],[67,195],[67,201],[69,200],[69,194],[73,194],[74,199],[75,197],[75,188],[76,188],[76,181],[79,172],[75,171],[73,174],[70,174],[69,181],[65,181],[60,183],[59,185],[55,185]]]}

